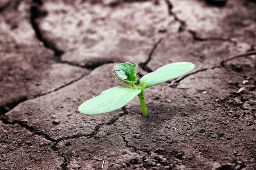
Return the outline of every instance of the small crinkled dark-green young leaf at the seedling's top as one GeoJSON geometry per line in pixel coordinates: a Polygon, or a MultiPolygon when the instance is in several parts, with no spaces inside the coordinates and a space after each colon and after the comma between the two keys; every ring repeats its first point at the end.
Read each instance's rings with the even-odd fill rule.
{"type": "Polygon", "coordinates": [[[114,67],[114,73],[117,75],[116,79],[119,79],[127,84],[137,82],[136,68],[137,64],[131,64],[129,62],[121,63],[114,67]]]}

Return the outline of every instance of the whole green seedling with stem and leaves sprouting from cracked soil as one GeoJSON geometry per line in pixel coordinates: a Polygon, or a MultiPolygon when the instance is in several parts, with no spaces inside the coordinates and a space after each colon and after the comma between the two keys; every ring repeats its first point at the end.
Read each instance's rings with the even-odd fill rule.
{"type": "Polygon", "coordinates": [[[146,117],[148,116],[148,110],[144,98],[144,89],[166,82],[167,80],[178,78],[195,67],[195,65],[190,62],[171,63],[142,76],[139,83],[140,86],[136,86],[135,83],[138,78],[138,75],[136,75],[137,66],[137,64],[133,65],[126,62],[116,65],[113,70],[117,76],[116,79],[131,84],[132,88],[118,86],[103,91],[99,96],[81,104],[78,107],[79,112],[87,115],[112,112],[124,107],[124,105],[132,101],[136,96],[139,96],[142,115],[146,117]]]}

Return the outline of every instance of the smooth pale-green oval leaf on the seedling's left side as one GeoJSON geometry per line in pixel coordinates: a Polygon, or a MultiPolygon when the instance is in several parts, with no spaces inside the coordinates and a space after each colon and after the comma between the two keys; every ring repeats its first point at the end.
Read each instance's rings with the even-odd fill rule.
{"type": "Polygon", "coordinates": [[[128,104],[141,90],[130,87],[114,87],[103,91],[99,96],[85,101],[78,107],[82,114],[93,115],[112,112],[128,104]]]}

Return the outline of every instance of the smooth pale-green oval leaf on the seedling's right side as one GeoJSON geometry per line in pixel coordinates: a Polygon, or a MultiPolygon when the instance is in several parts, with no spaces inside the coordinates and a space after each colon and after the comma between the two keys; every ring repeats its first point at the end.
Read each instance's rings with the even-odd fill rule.
{"type": "Polygon", "coordinates": [[[156,84],[166,82],[170,79],[178,78],[179,76],[194,69],[195,65],[190,62],[175,62],[170,63],[157,69],[156,71],[144,75],[140,79],[142,89],[154,86],[156,84]]]}

